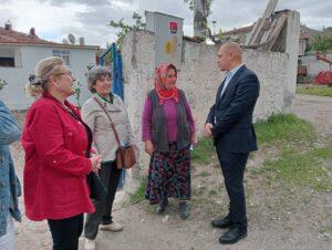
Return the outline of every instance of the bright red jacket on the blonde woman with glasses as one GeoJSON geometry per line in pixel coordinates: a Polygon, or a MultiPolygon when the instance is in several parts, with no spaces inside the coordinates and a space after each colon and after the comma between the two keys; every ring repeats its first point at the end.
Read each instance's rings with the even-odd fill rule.
{"type": "MultiPolygon", "coordinates": [[[[65,105],[81,118],[76,107],[69,102],[65,105]]],[[[29,219],[64,219],[94,211],[86,185],[92,164],[85,152],[91,140],[82,122],[49,93],[33,103],[21,138],[29,219]]]]}

